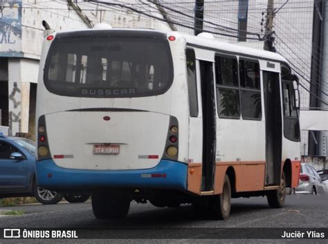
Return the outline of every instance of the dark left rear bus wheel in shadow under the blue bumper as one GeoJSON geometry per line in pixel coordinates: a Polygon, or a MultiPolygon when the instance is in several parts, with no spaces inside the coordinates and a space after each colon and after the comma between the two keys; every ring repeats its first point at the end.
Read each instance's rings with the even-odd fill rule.
{"type": "Polygon", "coordinates": [[[111,196],[108,192],[93,192],[91,205],[96,218],[125,218],[130,208],[130,199],[111,196]]]}

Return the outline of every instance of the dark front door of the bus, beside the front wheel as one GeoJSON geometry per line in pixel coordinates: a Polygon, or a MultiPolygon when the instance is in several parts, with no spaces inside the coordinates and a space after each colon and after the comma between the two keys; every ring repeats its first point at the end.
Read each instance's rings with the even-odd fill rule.
{"type": "Polygon", "coordinates": [[[279,185],[282,163],[282,111],[280,78],[277,72],[263,71],[266,123],[266,185],[279,185]]]}

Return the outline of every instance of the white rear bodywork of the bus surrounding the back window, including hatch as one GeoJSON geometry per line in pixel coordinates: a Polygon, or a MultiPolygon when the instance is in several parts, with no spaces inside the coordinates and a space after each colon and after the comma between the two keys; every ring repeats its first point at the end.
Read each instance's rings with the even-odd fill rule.
{"type": "MultiPolygon", "coordinates": [[[[53,35],[55,36],[55,33],[53,35]]],[[[42,57],[46,57],[50,43],[51,41],[44,41],[42,57]]],[[[178,161],[188,162],[188,143],[181,143],[181,141],[188,141],[185,40],[178,37],[176,41],[169,44],[172,52],[180,53],[172,57],[172,62],[174,65],[183,65],[183,68],[174,68],[174,81],[171,87],[164,94],[156,96],[108,99],[58,96],[46,89],[43,68],[46,59],[40,61],[37,118],[46,115],[52,156],[73,155],[73,159],[54,159],[57,165],[89,170],[134,170],[155,167],[165,153],[170,116],[176,117],[179,121],[178,161]],[[102,109],[138,110],[138,112],[83,111],[102,109]],[[81,110],[81,112],[72,110],[81,110]],[[97,114],[97,118],[93,114],[97,114]],[[104,121],[104,116],[111,117],[111,120],[104,121]],[[109,127],[114,121],[116,121],[115,126],[109,127]],[[60,130],[53,128],[60,128],[60,130]],[[93,145],[102,143],[122,143],[120,147],[122,154],[120,156],[93,155],[93,145]],[[158,159],[143,159],[147,155],[158,155],[158,159]],[[107,161],[107,159],[114,160],[107,161]]]]}

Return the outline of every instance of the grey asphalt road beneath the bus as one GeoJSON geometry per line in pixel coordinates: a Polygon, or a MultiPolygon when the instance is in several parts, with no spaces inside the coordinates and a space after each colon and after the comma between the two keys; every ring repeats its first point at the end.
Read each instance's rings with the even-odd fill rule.
{"type": "Polygon", "coordinates": [[[21,216],[0,216],[0,227],[328,227],[328,195],[291,195],[281,209],[271,209],[266,198],[233,199],[230,219],[199,219],[190,205],[158,208],[131,203],[124,220],[98,220],[90,203],[0,207],[24,210],[21,216]]]}

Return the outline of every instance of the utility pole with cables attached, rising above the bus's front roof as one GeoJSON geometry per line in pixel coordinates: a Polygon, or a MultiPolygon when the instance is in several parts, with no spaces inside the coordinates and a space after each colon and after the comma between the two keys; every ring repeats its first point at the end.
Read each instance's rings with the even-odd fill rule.
{"type": "Polygon", "coordinates": [[[268,7],[266,8],[266,25],[265,25],[265,36],[264,50],[275,52],[275,47],[273,46],[273,17],[275,17],[275,12],[273,6],[275,5],[274,0],[268,0],[268,7]]]}

